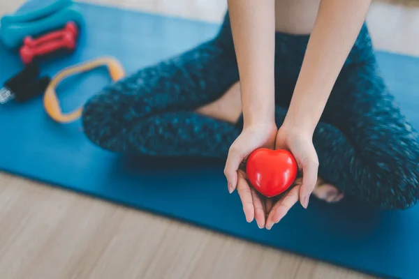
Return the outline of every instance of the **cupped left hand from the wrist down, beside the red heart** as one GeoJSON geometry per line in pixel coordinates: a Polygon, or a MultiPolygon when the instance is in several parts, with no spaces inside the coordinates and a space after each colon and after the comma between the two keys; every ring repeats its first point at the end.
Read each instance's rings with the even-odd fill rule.
{"type": "Polygon", "coordinates": [[[260,147],[274,149],[277,131],[277,126],[274,122],[245,126],[242,133],[230,146],[224,169],[228,191],[233,193],[237,187],[247,222],[250,223],[254,218],[260,228],[265,227],[265,205],[258,193],[256,193],[256,190],[249,186],[246,172],[244,169],[240,169],[240,165],[245,162],[255,149],[260,147]]]}

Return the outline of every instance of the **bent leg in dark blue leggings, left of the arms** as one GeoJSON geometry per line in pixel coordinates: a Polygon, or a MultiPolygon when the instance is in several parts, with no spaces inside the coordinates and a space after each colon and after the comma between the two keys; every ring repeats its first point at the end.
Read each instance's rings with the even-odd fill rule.
{"type": "Polygon", "coordinates": [[[207,41],[90,98],[82,115],[84,133],[117,153],[223,158],[240,131],[194,111],[238,79],[235,56],[219,40],[207,41]]]}

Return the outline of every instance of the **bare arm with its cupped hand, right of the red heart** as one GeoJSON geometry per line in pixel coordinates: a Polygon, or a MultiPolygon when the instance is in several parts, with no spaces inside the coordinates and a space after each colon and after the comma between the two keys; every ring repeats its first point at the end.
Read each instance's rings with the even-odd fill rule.
{"type": "Polygon", "coordinates": [[[314,129],[358,37],[370,2],[321,0],[293,98],[276,139],[277,149],[289,149],[295,156],[302,169],[302,183],[272,208],[267,227],[272,227],[298,200],[304,208],[309,204],[318,176],[314,129]]]}

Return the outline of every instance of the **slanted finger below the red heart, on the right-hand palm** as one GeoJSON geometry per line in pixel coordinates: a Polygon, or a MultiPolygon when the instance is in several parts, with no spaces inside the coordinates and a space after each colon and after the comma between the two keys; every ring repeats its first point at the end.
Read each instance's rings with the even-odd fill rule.
{"type": "Polygon", "coordinates": [[[298,193],[300,192],[300,185],[295,186],[291,189],[283,199],[274,204],[272,210],[267,216],[266,228],[271,229],[272,226],[278,223],[286,213],[298,202],[298,193]]]}

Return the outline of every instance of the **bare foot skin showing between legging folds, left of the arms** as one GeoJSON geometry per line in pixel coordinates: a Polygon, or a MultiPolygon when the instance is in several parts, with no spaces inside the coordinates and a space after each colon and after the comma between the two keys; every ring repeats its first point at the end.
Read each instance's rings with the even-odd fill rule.
{"type": "Polygon", "coordinates": [[[242,114],[242,98],[240,96],[240,83],[236,82],[218,100],[199,107],[196,110],[199,114],[210,116],[214,119],[237,123],[242,114]]]}

